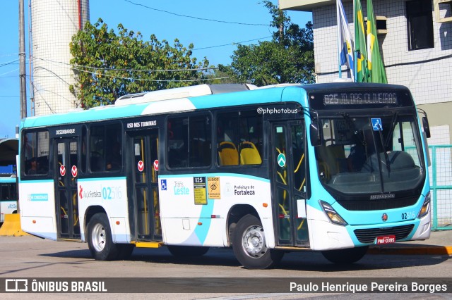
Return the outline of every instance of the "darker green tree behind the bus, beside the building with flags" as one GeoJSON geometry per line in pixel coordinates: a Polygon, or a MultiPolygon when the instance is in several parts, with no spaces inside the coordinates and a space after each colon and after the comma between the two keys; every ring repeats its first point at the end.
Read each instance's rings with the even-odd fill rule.
{"type": "Polygon", "coordinates": [[[237,82],[258,86],[314,82],[312,23],[300,28],[270,1],[263,1],[263,4],[273,19],[270,23],[275,28],[273,39],[257,45],[238,45],[231,56],[231,65],[219,65],[220,70],[237,82]]]}

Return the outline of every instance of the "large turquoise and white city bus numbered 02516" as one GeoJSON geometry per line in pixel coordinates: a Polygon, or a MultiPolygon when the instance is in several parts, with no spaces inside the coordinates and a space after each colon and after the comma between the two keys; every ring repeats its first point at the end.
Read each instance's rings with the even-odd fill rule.
{"type": "Polygon", "coordinates": [[[428,239],[427,116],[399,85],[198,85],[25,118],[25,232],[175,256],[232,247],[246,268],[287,251],[358,261],[428,239]]]}

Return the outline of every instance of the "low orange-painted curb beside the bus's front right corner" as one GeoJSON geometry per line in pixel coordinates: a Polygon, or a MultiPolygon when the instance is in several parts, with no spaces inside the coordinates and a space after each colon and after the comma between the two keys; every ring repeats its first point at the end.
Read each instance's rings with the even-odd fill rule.
{"type": "Polygon", "coordinates": [[[452,256],[452,246],[371,246],[367,254],[447,255],[452,256]]]}

